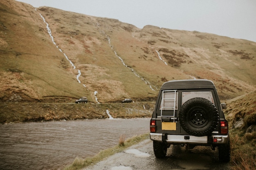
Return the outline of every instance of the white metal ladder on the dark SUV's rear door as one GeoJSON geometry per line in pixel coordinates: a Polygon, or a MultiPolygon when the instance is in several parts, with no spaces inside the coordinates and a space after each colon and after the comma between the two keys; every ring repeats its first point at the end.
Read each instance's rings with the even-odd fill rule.
{"type": "Polygon", "coordinates": [[[161,121],[164,117],[169,118],[170,117],[170,121],[173,120],[173,122],[177,121],[177,118],[175,117],[175,108],[176,108],[176,93],[177,90],[165,90],[162,91],[162,102],[161,102],[161,121]],[[166,94],[168,92],[174,92],[174,96],[173,97],[167,97],[165,98],[166,94]],[[168,102],[170,102],[170,105],[168,105],[166,102],[166,100],[169,100],[168,102]],[[173,105],[171,104],[173,102],[173,105]],[[167,106],[166,106],[167,105],[167,106]],[[168,109],[169,108],[169,109],[168,109]],[[163,110],[170,110],[172,113],[172,109],[173,109],[173,115],[162,115],[163,110]]]}

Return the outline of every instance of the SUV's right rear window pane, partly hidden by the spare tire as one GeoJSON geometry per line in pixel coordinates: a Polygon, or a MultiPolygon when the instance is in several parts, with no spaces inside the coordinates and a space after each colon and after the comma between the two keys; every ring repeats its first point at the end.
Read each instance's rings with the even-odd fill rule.
{"type": "Polygon", "coordinates": [[[192,99],[195,97],[202,97],[204,99],[207,99],[213,102],[214,104],[211,91],[184,91],[182,92],[182,105],[189,99],[192,99]]]}

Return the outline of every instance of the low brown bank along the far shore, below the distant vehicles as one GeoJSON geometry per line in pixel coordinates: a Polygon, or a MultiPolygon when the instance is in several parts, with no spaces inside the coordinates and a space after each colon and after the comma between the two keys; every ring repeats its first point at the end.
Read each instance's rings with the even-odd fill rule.
{"type": "Polygon", "coordinates": [[[75,103],[11,103],[0,102],[0,124],[58,121],[77,119],[106,119],[106,110],[114,118],[151,117],[155,102],[75,104],[75,103]]]}

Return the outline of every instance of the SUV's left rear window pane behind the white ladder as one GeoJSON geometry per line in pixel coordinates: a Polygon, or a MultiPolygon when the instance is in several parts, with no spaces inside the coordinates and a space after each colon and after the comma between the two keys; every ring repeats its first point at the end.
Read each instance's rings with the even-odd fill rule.
{"type": "Polygon", "coordinates": [[[162,92],[162,100],[160,104],[160,110],[173,110],[175,107],[175,110],[178,109],[178,92],[176,91],[163,91],[162,92]],[[176,93],[176,97],[175,97],[176,93]],[[175,104],[174,104],[175,101],[175,104]]]}

